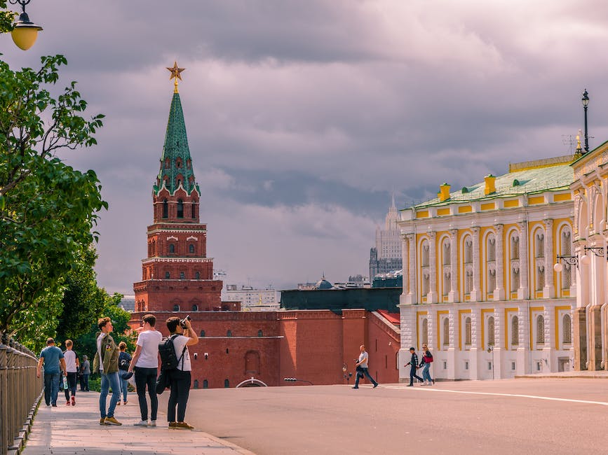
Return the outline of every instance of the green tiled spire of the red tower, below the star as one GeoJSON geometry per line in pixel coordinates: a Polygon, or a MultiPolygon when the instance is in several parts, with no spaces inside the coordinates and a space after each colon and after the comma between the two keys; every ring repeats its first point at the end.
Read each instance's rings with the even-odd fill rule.
{"type": "Polygon", "coordinates": [[[194,180],[190,149],[188,148],[182,102],[180,94],[176,90],[171,101],[165,146],[161,156],[161,169],[158,172],[156,185],[154,185],[154,193],[158,195],[165,186],[169,193],[173,195],[179,188],[180,183],[187,194],[190,194],[192,190],[198,191],[198,186],[194,180]]]}

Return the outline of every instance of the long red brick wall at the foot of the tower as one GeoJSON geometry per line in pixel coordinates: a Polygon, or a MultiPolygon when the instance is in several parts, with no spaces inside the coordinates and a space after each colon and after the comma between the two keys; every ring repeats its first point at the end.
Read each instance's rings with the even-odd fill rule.
{"type": "MultiPolygon", "coordinates": [[[[132,327],[139,326],[144,312],[133,313],[132,327]]],[[[154,312],[156,328],[167,335],[166,318],[187,312],[154,312]]],[[[344,384],[342,366],[354,374],[353,359],[360,344],[370,353],[370,374],[380,383],[398,382],[396,351],[399,335],[365,310],[344,310],[338,315],[319,311],[199,311],[190,313],[192,327],[205,336],[191,346],[192,380],[203,388],[234,387],[255,377],[269,386],[302,385],[285,382],[296,377],[313,384],[344,384]],[[231,331],[231,336],[228,335],[231,331]],[[262,330],[261,337],[258,331],[262,330]],[[228,350],[228,352],[227,352],[228,350]],[[205,360],[204,353],[208,353],[205,360]],[[197,353],[196,360],[194,353],[197,353]]],[[[354,378],[349,380],[353,384],[354,378]]]]}

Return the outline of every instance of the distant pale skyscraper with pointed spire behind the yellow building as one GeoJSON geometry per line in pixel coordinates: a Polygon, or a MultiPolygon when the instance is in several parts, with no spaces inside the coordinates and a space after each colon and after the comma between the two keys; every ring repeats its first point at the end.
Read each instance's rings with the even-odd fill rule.
{"type": "Polygon", "coordinates": [[[399,214],[395,207],[395,195],[392,202],[386,214],[384,230],[376,228],[376,246],[370,249],[370,281],[377,274],[401,269],[401,238],[397,228],[399,214]]]}

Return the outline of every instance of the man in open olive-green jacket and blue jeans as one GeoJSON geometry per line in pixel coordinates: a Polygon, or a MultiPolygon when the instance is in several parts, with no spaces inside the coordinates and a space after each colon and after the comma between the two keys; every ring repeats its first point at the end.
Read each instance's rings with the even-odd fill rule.
{"type": "Polygon", "coordinates": [[[101,332],[97,336],[97,353],[93,360],[93,372],[101,374],[101,394],[99,409],[101,413],[100,425],[122,425],[114,418],[116,403],[121,399],[121,384],[119,381],[119,348],[110,335],[112,321],[110,318],[100,318],[97,321],[101,332]],[[106,413],[106,401],[109,388],[112,387],[112,398],[106,413]]]}

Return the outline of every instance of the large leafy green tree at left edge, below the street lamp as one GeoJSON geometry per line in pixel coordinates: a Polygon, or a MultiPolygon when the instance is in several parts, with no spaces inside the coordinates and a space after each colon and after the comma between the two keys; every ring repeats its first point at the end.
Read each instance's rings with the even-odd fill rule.
{"type": "Polygon", "coordinates": [[[62,64],[56,55],[42,57],[38,71],[12,71],[0,60],[0,332],[31,334],[24,321],[57,322],[65,280],[97,239],[97,212],[107,209],[95,172],[55,157],[60,148],[96,144],[103,118],[81,116],[87,104],[75,82],[50,94],[62,64]]]}

